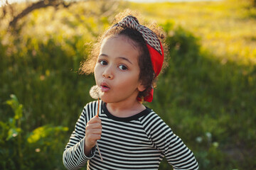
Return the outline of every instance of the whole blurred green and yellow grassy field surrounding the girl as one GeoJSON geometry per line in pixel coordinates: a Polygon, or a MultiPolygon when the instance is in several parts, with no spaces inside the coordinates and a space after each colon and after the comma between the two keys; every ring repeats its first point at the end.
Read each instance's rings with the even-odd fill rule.
{"type": "MultiPolygon", "coordinates": [[[[48,7],[19,21],[16,33],[7,30],[7,13],[0,20],[0,169],[64,169],[63,149],[95,84],[78,74],[80,62],[125,8],[167,35],[169,67],[146,106],[200,169],[255,169],[256,9],[235,0],[48,7]]],[[[164,160],[159,169],[170,167],[164,160]]]]}

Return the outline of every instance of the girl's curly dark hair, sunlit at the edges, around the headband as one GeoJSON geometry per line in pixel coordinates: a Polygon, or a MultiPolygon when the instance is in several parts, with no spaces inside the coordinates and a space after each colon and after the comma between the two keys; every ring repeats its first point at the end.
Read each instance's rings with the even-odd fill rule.
{"type": "MultiPolygon", "coordinates": [[[[119,15],[116,16],[114,23],[121,21],[122,18],[124,18],[124,16],[128,16],[128,15],[134,16],[134,14],[131,14],[130,11],[120,13],[119,15]]],[[[159,40],[161,40],[162,46],[165,50],[166,48],[163,42],[164,34],[161,32],[161,28],[159,28],[159,26],[156,26],[156,24],[154,23],[146,27],[154,31],[154,33],[158,36],[159,40]]],[[[85,60],[85,62],[81,63],[80,73],[92,74],[94,72],[94,68],[97,62],[97,57],[100,52],[100,45],[102,44],[102,40],[104,40],[105,38],[110,38],[117,35],[124,35],[127,38],[130,38],[139,49],[139,57],[138,57],[138,63],[139,63],[139,69],[140,69],[139,80],[142,81],[142,85],[145,87],[144,91],[139,92],[139,97],[143,99],[145,96],[147,96],[152,86],[155,86],[156,79],[155,79],[154,69],[151,64],[149,50],[146,47],[146,42],[142,37],[142,34],[139,33],[139,31],[137,30],[134,30],[132,28],[114,27],[114,28],[111,28],[110,30],[107,30],[105,33],[103,33],[102,36],[100,36],[100,39],[98,40],[98,42],[92,48],[90,56],[87,58],[87,60],[85,60]]],[[[167,66],[167,62],[165,57],[162,70],[166,66],[167,66]]]]}

